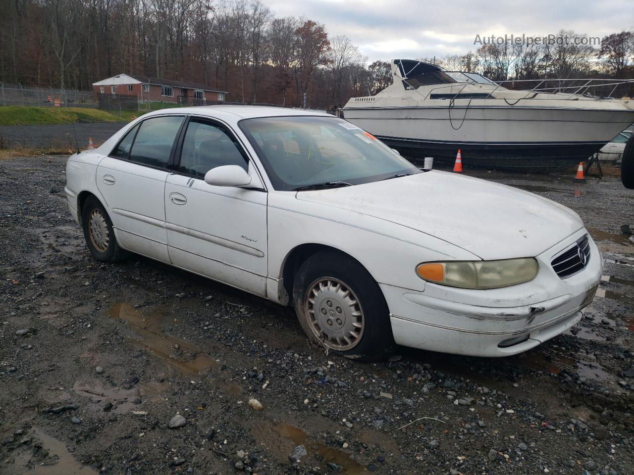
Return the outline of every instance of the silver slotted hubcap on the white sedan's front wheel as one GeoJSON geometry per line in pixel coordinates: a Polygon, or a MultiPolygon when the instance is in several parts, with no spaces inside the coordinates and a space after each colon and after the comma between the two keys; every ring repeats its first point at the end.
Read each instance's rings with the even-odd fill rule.
{"type": "Polygon", "coordinates": [[[363,310],[351,289],[333,277],[311,284],[306,317],[314,335],[333,350],[354,348],[363,335],[363,310]]]}

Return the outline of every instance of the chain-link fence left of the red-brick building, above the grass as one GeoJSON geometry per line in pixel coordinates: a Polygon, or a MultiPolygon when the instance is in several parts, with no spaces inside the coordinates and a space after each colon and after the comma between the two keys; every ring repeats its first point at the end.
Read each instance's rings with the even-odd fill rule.
{"type": "Polygon", "coordinates": [[[0,81],[0,105],[37,107],[96,108],[97,101],[91,91],[55,89],[54,87],[24,87],[0,81]]]}

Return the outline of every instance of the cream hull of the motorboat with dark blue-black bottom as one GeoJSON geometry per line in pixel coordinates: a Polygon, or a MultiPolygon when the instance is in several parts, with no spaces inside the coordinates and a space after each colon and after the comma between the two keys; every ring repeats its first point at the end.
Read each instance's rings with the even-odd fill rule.
{"type": "Polygon", "coordinates": [[[634,122],[630,108],[592,106],[346,107],[344,114],[412,158],[453,163],[460,149],[465,167],[551,172],[586,160],[634,122]]]}

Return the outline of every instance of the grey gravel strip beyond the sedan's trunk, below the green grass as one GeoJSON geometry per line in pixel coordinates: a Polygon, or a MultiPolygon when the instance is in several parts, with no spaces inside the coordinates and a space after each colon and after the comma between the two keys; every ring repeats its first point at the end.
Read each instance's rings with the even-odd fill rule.
{"type": "Polygon", "coordinates": [[[88,138],[97,146],[128,122],[93,124],[5,125],[0,127],[0,143],[5,148],[88,148],[88,138]]]}

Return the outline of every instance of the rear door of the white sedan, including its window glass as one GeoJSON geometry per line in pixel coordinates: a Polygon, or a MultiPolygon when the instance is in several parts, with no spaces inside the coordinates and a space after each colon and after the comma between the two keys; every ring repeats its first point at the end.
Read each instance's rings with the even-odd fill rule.
{"type": "Polygon", "coordinates": [[[97,186],[123,248],[169,262],[164,192],[184,117],[152,117],[130,130],[101,160],[97,186]]]}

